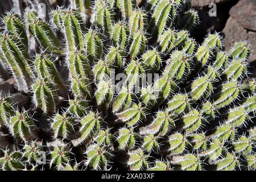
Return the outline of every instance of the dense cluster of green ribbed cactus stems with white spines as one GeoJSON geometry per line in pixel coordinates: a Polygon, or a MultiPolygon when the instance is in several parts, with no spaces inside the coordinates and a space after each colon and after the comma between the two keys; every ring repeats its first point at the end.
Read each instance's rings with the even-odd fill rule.
{"type": "Polygon", "coordinates": [[[0,60],[30,101],[1,93],[1,170],[256,169],[249,43],[195,42],[185,0],[71,3],[3,17],[0,60]]]}

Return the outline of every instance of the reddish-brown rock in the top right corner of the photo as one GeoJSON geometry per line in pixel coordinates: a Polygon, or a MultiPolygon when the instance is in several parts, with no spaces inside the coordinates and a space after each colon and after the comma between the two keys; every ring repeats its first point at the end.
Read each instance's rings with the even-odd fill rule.
{"type": "Polygon", "coordinates": [[[256,1],[255,0],[241,0],[236,6],[233,6],[229,11],[238,23],[243,28],[256,31],[256,1]]]}

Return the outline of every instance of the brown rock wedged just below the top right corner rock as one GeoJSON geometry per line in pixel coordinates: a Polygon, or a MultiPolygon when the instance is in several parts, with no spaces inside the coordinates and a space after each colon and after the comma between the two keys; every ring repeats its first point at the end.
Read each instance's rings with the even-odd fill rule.
{"type": "Polygon", "coordinates": [[[222,32],[225,35],[224,46],[226,51],[229,51],[235,42],[247,40],[248,38],[247,30],[231,16],[229,17],[228,22],[226,22],[226,26],[222,32]]]}

